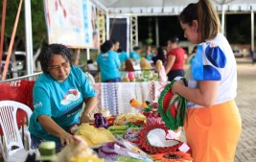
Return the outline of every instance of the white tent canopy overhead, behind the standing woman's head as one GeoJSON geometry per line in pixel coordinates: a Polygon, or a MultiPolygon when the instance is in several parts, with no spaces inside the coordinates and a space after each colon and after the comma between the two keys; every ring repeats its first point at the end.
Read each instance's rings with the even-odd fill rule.
{"type": "MultiPolygon", "coordinates": [[[[189,3],[198,0],[92,0],[108,14],[178,14],[189,3]]],[[[223,5],[226,12],[256,11],[255,0],[211,0],[218,12],[223,5]]]]}

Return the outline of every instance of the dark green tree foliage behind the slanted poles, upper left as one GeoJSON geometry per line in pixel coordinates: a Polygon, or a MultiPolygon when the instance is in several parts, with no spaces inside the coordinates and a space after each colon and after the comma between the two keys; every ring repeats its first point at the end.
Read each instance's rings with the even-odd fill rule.
{"type": "MultiPolygon", "coordinates": [[[[13,26],[18,11],[19,2],[17,0],[8,0],[6,9],[6,21],[5,21],[5,47],[4,51],[7,51],[12,36],[13,26]]],[[[15,35],[15,42],[13,45],[17,47],[17,50],[25,50],[25,1],[23,0],[17,31],[15,35]]],[[[0,17],[2,19],[3,1],[0,3],[0,17]]],[[[44,4],[43,0],[31,0],[31,13],[32,13],[32,31],[33,31],[33,47],[34,51],[39,48],[42,40],[46,38],[47,30],[44,17],[44,4]]],[[[2,25],[2,24],[0,24],[2,25]]]]}

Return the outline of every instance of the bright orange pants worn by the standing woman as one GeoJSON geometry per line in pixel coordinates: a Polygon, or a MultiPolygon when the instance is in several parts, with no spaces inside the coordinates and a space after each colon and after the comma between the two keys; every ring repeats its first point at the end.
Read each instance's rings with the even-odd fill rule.
{"type": "Polygon", "coordinates": [[[242,130],[234,101],[189,108],[184,128],[194,162],[234,162],[242,130]]]}

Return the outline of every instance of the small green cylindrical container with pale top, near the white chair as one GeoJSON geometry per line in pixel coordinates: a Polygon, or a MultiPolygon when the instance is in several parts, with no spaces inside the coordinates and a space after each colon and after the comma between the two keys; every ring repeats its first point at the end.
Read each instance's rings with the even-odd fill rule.
{"type": "Polygon", "coordinates": [[[40,162],[57,162],[56,143],[54,141],[45,141],[39,145],[40,162]]]}

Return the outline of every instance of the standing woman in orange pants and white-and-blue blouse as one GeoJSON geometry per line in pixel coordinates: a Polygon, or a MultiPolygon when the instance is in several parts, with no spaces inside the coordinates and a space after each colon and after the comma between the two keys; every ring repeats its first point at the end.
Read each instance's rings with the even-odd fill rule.
{"type": "Polygon", "coordinates": [[[220,33],[218,13],[209,0],[189,4],[179,15],[184,36],[198,51],[191,63],[188,87],[175,81],[173,93],[186,98],[187,143],[196,162],[233,162],[242,121],[234,101],[237,65],[220,33]]]}

